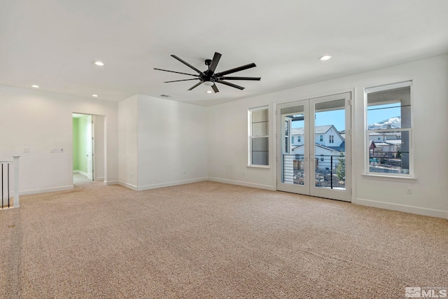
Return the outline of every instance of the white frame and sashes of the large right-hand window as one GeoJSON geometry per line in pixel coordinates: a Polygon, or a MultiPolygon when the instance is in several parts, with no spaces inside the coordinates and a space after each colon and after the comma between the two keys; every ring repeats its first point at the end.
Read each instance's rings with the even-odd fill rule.
{"type": "MultiPolygon", "coordinates": [[[[386,104],[386,102],[384,103],[386,104]]],[[[365,124],[365,173],[363,174],[363,177],[369,178],[378,178],[378,179],[414,179],[414,146],[413,146],[413,132],[414,132],[414,111],[413,111],[413,88],[412,88],[412,81],[403,81],[399,83],[391,83],[386,85],[378,85],[370,88],[364,89],[364,124],[365,124]],[[368,95],[374,92],[382,92],[387,90],[395,90],[398,88],[409,88],[409,106],[410,106],[410,125],[409,127],[400,127],[400,128],[389,128],[389,129],[376,129],[376,130],[369,130],[368,126],[368,95]],[[409,135],[408,140],[408,146],[409,146],[409,169],[408,173],[388,173],[388,172],[370,172],[370,133],[377,132],[377,133],[384,133],[388,131],[395,131],[395,132],[407,132],[409,135]]],[[[400,139],[401,140],[401,139],[400,139]]]]}

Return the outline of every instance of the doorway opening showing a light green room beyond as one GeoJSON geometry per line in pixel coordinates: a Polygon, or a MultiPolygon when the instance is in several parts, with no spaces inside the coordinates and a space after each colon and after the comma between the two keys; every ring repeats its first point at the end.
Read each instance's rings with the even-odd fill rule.
{"type": "Polygon", "coordinates": [[[73,185],[104,181],[104,116],[73,113],[73,185]]]}

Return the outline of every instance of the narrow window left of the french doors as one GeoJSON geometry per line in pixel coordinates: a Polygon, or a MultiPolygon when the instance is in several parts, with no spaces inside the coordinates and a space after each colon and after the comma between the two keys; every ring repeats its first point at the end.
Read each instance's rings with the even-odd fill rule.
{"type": "Polygon", "coordinates": [[[269,165],[269,111],[267,107],[249,109],[249,165],[269,165]]]}

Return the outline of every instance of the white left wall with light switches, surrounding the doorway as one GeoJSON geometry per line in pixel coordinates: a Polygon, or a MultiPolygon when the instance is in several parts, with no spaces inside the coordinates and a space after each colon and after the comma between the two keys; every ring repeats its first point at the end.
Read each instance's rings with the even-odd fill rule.
{"type": "Polygon", "coordinates": [[[73,112],[106,116],[104,176],[118,180],[116,103],[0,85],[0,106],[0,160],[21,156],[21,194],[73,188],[73,112]]]}

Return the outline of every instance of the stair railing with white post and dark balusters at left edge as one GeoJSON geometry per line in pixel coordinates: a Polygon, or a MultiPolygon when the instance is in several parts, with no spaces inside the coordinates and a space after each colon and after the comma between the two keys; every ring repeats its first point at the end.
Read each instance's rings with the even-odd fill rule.
{"type": "Polygon", "coordinates": [[[11,207],[11,170],[13,170],[14,188],[13,188],[13,207],[19,207],[19,158],[20,156],[13,156],[13,161],[0,161],[1,164],[1,209],[11,207]],[[11,167],[13,165],[13,167],[11,167]]]}

